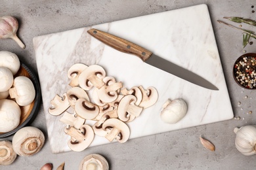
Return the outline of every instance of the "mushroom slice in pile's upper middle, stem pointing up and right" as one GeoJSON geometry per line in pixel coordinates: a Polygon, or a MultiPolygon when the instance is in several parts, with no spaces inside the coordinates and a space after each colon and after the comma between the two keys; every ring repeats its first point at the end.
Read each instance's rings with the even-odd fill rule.
{"type": "Polygon", "coordinates": [[[103,78],[103,81],[105,82],[105,85],[102,86],[102,88],[95,88],[98,98],[105,103],[115,101],[118,96],[117,90],[119,90],[123,84],[121,82],[116,82],[115,78],[112,76],[106,76],[103,78]]]}

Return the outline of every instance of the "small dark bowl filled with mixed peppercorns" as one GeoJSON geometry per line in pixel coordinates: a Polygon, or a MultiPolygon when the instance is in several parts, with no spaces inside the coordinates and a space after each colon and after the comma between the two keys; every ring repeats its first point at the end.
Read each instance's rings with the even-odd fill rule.
{"type": "Polygon", "coordinates": [[[234,80],[242,88],[256,89],[256,53],[247,53],[236,59],[233,68],[234,80]]]}

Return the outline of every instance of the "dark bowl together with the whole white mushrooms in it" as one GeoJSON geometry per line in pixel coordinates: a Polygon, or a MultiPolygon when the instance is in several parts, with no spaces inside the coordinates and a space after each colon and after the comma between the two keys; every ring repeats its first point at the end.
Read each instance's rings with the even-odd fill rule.
{"type": "Polygon", "coordinates": [[[41,90],[31,69],[12,52],[0,51],[0,138],[33,121],[41,90]]]}

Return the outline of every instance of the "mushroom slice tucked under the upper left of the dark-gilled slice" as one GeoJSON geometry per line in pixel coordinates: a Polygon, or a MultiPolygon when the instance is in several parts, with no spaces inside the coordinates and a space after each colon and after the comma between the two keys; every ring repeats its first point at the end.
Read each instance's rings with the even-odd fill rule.
{"type": "Polygon", "coordinates": [[[90,101],[89,96],[87,95],[87,92],[85,92],[85,90],[79,87],[70,88],[67,91],[67,97],[68,97],[68,102],[70,103],[70,106],[73,108],[75,107],[75,102],[80,98],[87,99],[87,101],[90,101]]]}

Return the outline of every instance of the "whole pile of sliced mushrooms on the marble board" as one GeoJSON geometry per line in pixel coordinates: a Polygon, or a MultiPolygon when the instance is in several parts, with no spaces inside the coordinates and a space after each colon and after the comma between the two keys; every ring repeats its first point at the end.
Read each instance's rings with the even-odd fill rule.
{"type": "Polygon", "coordinates": [[[100,65],[75,63],[68,70],[68,78],[72,88],[62,96],[55,95],[49,113],[54,116],[62,114],[60,122],[67,125],[64,131],[71,137],[68,146],[77,152],[85,150],[95,134],[110,142],[116,139],[125,143],[130,136],[127,122],[135,120],[143,109],[158,100],[155,88],[135,86],[127,90],[122,82],[106,76],[100,65]],[[95,124],[91,127],[85,124],[86,120],[94,120],[95,124]]]}

